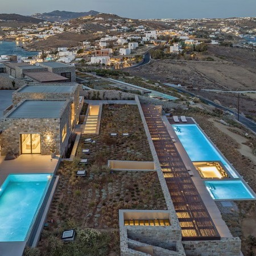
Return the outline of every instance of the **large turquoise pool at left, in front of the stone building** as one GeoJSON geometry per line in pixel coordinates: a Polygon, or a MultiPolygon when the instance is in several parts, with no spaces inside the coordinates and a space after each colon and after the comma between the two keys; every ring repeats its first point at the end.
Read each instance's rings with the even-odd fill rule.
{"type": "Polygon", "coordinates": [[[51,174],[10,174],[0,187],[0,242],[26,241],[51,174]]]}

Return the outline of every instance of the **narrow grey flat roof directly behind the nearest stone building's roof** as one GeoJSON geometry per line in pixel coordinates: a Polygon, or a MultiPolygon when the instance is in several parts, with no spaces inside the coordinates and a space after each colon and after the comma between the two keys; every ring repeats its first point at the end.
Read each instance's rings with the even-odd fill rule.
{"type": "Polygon", "coordinates": [[[75,85],[27,85],[19,92],[25,93],[71,93],[75,85]]]}

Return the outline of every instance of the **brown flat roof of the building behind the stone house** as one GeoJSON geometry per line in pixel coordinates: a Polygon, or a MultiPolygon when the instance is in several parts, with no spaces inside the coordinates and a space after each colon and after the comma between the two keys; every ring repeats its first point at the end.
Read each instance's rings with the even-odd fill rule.
{"type": "Polygon", "coordinates": [[[64,76],[57,75],[49,71],[42,72],[24,72],[24,75],[38,82],[68,81],[64,76]]]}

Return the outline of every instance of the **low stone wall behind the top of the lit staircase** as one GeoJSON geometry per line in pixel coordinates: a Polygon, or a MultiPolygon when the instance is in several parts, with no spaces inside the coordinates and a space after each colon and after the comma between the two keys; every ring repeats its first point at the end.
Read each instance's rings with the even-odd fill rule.
{"type": "Polygon", "coordinates": [[[80,96],[85,100],[134,100],[134,94],[119,90],[83,90],[80,96]]]}

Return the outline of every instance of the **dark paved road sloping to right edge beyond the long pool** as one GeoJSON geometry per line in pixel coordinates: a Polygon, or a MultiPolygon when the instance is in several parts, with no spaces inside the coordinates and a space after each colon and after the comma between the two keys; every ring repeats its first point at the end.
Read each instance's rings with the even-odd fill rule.
{"type": "MultiPolygon", "coordinates": [[[[189,95],[193,96],[193,97],[197,97],[197,98],[200,98],[200,100],[206,102],[207,104],[209,105],[212,105],[218,109],[222,109],[224,111],[228,111],[232,114],[234,114],[236,117],[238,116],[238,113],[235,112],[233,109],[229,109],[229,108],[226,108],[225,106],[221,106],[213,101],[210,101],[210,100],[207,100],[206,98],[204,97],[201,97],[201,96],[198,96],[197,94],[195,93],[191,93],[191,92],[188,92],[187,90],[184,90],[184,89],[181,89],[180,87],[177,87],[177,86],[174,86],[174,85],[171,85],[171,84],[166,84],[167,86],[170,86],[176,90],[178,90],[179,92],[183,92],[183,93],[188,93],[189,95]]],[[[246,118],[244,117],[243,115],[239,115],[239,121],[245,125],[247,128],[249,128],[251,131],[253,131],[254,133],[256,133],[256,122],[252,121],[251,119],[249,118],[246,118]]]]}

